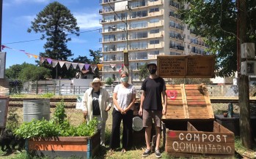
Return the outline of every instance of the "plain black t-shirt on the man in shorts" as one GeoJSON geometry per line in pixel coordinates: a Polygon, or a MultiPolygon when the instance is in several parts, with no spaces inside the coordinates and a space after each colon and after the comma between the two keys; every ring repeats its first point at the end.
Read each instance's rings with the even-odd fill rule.
{"type": "Polygon", "coordinates": [[[164,79],[157,77],[150,79],[147,77],[142,82],[142,89],[145,91],[145,100],[143,101],[143,109],[162,110],[162,91],[167,90],[164,79]]]}

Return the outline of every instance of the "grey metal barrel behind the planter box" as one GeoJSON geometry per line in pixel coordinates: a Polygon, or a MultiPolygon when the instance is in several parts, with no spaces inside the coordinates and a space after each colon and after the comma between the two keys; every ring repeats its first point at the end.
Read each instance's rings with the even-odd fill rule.
{"type": "Polygon", "coordinates": [[[23,121],[50,120],[50,99],[23,100],[23,121]]]}

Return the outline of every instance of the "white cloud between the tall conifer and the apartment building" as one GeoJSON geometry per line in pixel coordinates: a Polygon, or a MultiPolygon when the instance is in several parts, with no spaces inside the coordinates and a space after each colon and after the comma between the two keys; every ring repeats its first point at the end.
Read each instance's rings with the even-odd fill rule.
{"type": "Polygon", "coordinates": [[[88,29],[88,28],[98,28],[101,26],[99,23],[100,15],[96,13],[94,14],[74,13],[73,15],[77,20],[80,30],[88,29]]]}

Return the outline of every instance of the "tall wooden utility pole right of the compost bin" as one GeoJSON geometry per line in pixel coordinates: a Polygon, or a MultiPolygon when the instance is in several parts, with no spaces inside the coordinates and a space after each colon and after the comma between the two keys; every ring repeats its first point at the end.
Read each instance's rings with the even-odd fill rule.
{"type": "MultiPolygon", "coordinates": [[[[238,98],[240,106],[240,139],[244,147],[252,148],[252,132],[250,126],[249,78],[241,74],[241,44],[246,42],[246,0],[237,0],[237,58],[238,58],[238,98]]],[[[244,59],[243,59],[244,60],[244,59]]]]}

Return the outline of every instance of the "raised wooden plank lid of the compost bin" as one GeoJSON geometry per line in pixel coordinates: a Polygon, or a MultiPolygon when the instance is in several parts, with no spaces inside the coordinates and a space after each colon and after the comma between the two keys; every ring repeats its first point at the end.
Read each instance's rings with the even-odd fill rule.
{"type": "Polygon", "coordinates": [[[167,114],[163,120],[214,120],[211,100],[205,84],[168,85],[167,114]]]}

